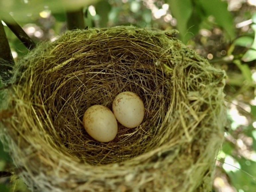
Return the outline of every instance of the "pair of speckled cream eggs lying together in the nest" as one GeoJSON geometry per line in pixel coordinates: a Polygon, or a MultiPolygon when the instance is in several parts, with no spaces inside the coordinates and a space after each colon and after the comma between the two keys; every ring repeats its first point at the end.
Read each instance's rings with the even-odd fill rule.
{"type": "Polygon", "coordinates": [[[112,141],[118,131],[117,121],[127,128],[135,128],[144,118],[144,104],[141,98],[130,91],[118,94],[112,110],[103,105],[89,107],[83,115],[86,132],[99,142],[112,141]]]}

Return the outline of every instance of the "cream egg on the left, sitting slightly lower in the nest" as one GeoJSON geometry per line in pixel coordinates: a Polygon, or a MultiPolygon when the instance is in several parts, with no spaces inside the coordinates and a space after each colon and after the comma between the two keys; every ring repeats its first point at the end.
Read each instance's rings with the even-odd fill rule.
{"type": "Polygon", "coordinates": [[[93,105],[85,111],[83,126],[86,132],[99,142],[112,141],[118,130],[114,114],[103,105],[93,105]]]}

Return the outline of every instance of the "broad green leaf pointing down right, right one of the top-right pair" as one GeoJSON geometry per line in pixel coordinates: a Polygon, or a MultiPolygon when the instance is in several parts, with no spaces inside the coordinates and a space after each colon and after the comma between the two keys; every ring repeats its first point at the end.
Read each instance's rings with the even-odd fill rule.
{"type": "Polygon", "coordinates": [[[227,2],[221,0],[198,0],[208,16],[213,16],[217,25],[226,30],[231,39],[235,38],[233,16],[227,10],[227,2]]]}

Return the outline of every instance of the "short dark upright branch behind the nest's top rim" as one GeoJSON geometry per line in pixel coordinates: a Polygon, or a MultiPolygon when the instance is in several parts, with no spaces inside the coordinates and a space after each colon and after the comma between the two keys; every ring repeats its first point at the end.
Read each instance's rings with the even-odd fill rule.
{"type": "Polygon", "coordinates": [[[75,29],[84,29],[84,18],[83,18],[83,9],[75,10],[75,11],[67,11],[67,29],[75,30],[75,29]]]}

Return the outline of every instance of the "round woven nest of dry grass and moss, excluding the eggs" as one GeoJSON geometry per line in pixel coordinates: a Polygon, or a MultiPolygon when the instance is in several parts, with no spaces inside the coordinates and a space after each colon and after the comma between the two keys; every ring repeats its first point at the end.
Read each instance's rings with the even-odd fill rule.
{"type": "Polygon", "coordinates": [[[33,191],[210,191],[226,118],[225,73],[175,34],[69,31],[17,63],[1,136],[33,191]],[[142,124],[119,125],[109,143],[93,140],[82,125],[85,110],[111,109],[122,91],[142,98],[142,124]]]}

